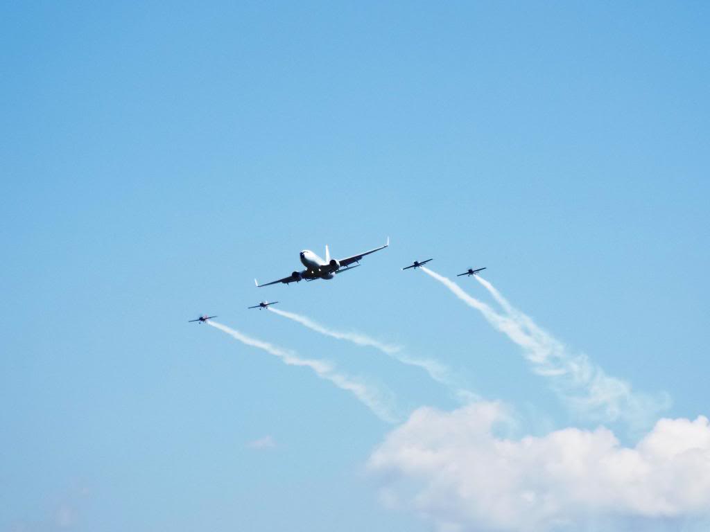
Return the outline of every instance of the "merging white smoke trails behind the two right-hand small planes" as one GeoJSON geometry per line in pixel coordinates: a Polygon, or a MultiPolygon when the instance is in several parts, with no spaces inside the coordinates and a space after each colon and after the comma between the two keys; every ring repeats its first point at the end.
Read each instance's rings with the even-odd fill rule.
{"type": "Polygon", "coordinates": [[[569,353],[563,343],[537,326],[530,316],[515,309],[486,279],[474,276],[503,307],[507,316],[498,314],[484,302],[471,297],[452,280],[426,267],[422,270],[480,311],[488,323],[523,348],[525,359],[532,364],[533,371],[551,379],[555,391],[567,399],[574,410],[603,421],[624,419],[634,430],[638,430],[669,406],[666,396],[654,398],[632,392],[628,382],[606,375],[584,353],[569,353]]]}

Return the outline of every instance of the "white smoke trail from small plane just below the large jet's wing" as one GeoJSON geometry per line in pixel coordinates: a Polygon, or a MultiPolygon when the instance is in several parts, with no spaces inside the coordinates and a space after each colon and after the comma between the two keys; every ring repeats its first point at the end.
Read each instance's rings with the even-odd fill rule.
{"type": "Polygon", "coordinates": [[[272,311],[275,314],[278,314],[279,316],[283,316],[284,318],[293,320],[296,323],[300,323],[302,326],[310,328],[311,331],[315,331],[325,336],[330,336],[331,338],[336,338],[337,340],[346,340],[356,345],[372,347],[380,351],[381,353],[384,353],[394,358],[395,360],[398,360],[398,362],[410,366],[420,367],[422,370],[425,370],[425,372],[427,372],[427,375],[429,375],[433,380],[435,380],[439,384],[444,384],[444,386],[454,389],[453,391],[455,394],[457,394],[457,397],[459,397],[459,399],[464,402],[471,402],[480,399],[480,397],[474,394],[474,392],[470,392],[469,390],[457,387],[457,385],[454,384],[454,377],[452,377],[451,370],[449,370],[448,367],[437,362],[436,360],[410,357],[409,355],[405,355],[405,353],[402,353],[402,348],[399,345],[383,343],[363,333],[356,333],[352,331],[335,331],[334,329],[328,328],[322,325],[321,323],[317,323],[317,321],[313,321],[311,318],[302,316],[301,314],[295,314],[293,312],[287,312],[281,309],[273,309],[271,307],[268,307],[268,310],[272,311]]]}

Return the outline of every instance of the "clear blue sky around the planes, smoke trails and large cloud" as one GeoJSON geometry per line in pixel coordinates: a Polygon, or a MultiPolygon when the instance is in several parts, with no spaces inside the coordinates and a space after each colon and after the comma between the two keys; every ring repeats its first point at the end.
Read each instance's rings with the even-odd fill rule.
{"type": "Polygon", "coordinates": [[[261,299],[446,365],[513,441],[601,423],[633,447],[710,414],[709,23],[700,1],[4,2],[0,531],[473,530],[394,504],[372,464],[420,441],[400,424],[420,407],[480,413],[261,299]],[[333,281],[253,285],[388,236],[333,281]],[[488,267],[569,356],[667,408],[575,409],[400,270],[429,257],[488,267]],[[201,313],[328,360],[398,421],[201,313]]]}

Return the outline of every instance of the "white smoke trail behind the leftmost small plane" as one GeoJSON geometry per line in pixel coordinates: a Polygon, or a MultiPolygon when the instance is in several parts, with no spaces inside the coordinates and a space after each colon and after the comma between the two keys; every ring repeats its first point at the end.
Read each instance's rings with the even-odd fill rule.
{"type": "Polygon", "coordinates": [[[293,353],[293,351],[279,348],[271,343],[264,342],[263,340],[251,338],[243,333],[240,333],[239,331],[235,331],[233,328],[222,325],[222,323],[217,323],[216,321],[207,321],[207,324],[229,334],[229,336],[236,338],[236,340],[239,340],[245,345],[251,345],[251,347],[264,350],[266,353],[270,353],[271,355],[280,358],[286,365],[309,367],[321,379],[328,380],[337,387],[354,394],[355,397],[357,397],[368,407],[368,409],[373,411],[373,414],[378,416],[383,421],[387,421],[388,423],[398,422],[398,416],[393,414],[391,406],[388,405],[388,401],[381,397],[381,393],[371,389],[371,387],[368,387],[368,385],[362,382],[357,382],[350,377],[346,377],[345,375],[336,372],[334,367],[329,362],[324,360],[309,360],[300,358],[293,353]]]}

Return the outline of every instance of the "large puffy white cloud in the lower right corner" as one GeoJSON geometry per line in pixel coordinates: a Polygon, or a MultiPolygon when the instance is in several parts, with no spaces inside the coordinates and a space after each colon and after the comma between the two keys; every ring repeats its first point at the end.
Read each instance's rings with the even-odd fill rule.
{"type": "Polygon", "coordinates": [[[439,532],[679,530],[710,514],[703,416],[661,419],[634,447],[606,428],[513,440],[499,436],[508,421],[499,403],[418,409],[368,462],[383,501],[439,532]]]}

